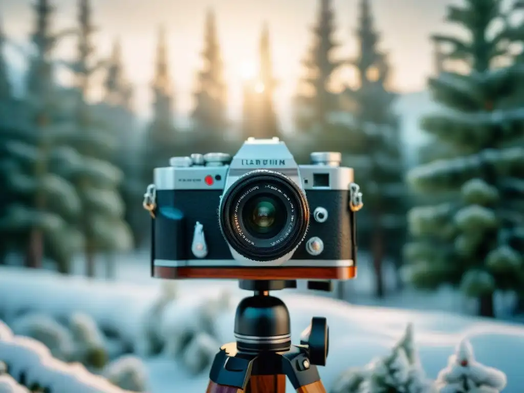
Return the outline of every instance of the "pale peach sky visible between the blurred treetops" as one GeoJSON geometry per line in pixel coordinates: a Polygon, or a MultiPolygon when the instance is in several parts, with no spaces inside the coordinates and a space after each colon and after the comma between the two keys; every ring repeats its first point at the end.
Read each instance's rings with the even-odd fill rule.
{"type": "MultiPolygon", "coordinates": [[[[389,51],[394,69],[393,85],[402,92],[424,88],[433,72],[429,35],[443,32],[445,6],[452,0],[372,0],[376,27],[382,32],[381,47],[389,51]]],[[[13,41],[27,42],[34,15],[29,0],[2,0],[0,16],[5,34],[13,41]]],[[[54,26],[74,26],[77,0],[51,0],[57,6],[54,26]]],[[[280,80],[276,104],[280,112],[289,112],[289,97],[296,89],[300,60],[312,39],[310,27],[315,23],[319,0],[93,0],[93,19],[100,31],[97,50],[108,56],[115,37],[122,40],[128,77],[136,85],[135,106],[147,114],[150,108],[149,83],[152,78],[158,26],[164,24],[168,34],[169,60],[177,112],[188,112],[199,53],[203,48],[205,10],[216,12],[219,39],[225,62],[225,77],[230,87],[231,111],[238,115],[242,69],[257,60],[261,26],[269,24],[274,70],[280,80]]],[[[359,0],[334,0],[337,38],[343,43],[337,55],[355,55],[354,31],[359,0]]],[[[6,49],[12,67],[23,70],[23,59],[6,49]]],[[[74,56],[74,40],[64,40],[57,56],[74,56]]],[[[62,75],[62,78],[65,78],[62,75]]],[[[351,83],[351,72],[341,71],[339,84],[351,83]]]]}

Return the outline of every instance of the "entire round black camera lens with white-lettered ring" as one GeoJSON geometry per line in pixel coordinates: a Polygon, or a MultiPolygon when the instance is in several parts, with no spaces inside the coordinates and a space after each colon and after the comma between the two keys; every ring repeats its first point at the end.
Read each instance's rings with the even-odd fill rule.
{"type": "Polygon", "coordinates": [[[304,192],[284,174],[246,173],[222,196],[219,223],[226,242],[240,255],[271,261],[291,253],[309,225],[304,192]]]}

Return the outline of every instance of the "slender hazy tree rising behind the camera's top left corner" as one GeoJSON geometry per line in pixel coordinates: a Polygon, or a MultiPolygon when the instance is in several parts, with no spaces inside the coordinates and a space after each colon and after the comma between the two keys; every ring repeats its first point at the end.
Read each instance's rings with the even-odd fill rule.
{"type": "MultiPolygon", "coordinates": [[[[154,168],[169,166],[171,157],[182,154],[181,139],[174,126],[173,87],[169,75],[166,45],[166,32],[160,28],[156,71],[152,83],[153,118],[146,130],[144,157],[141,162],[145,185],[152,182],[154,168]]],[[[144,190],[145,188],[142,191],[144,190]]]]}

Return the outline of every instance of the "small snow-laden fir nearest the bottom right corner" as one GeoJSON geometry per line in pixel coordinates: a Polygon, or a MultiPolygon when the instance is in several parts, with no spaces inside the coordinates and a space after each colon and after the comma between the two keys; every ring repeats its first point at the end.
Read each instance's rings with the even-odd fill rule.
{"type": "Polygon", "coordinates": [[[498,393],[506,387],[506,375],[475,360],[471,343],[464,339],[438,375],[438,393],[498,393]]]}

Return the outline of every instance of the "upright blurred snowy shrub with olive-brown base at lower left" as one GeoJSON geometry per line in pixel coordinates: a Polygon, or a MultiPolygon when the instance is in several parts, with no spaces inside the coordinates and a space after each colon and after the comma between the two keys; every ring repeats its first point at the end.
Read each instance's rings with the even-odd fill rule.
{"type": "Polygon", "coordinates": [[[104,367],[107,352],[104,337],[95,320],[88,314],[75,313],[69,319],[69,328],[75,346],[73,359],[88,367],[104,367]]]}

